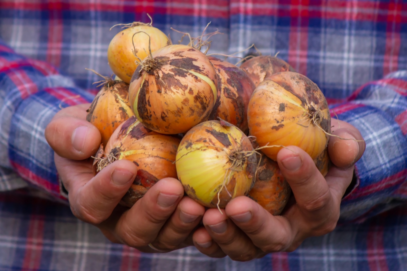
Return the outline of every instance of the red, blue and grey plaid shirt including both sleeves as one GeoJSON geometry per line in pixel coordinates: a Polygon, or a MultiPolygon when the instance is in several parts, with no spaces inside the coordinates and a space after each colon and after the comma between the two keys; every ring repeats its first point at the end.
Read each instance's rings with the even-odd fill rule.
{"type": "Polygon", "coordinates": [[[2,0],[0,271],[406,270],[406,11],[406,3],[373,0],[2,0]],[[107,46],[120,29],[108,29],[146,22],[146,13],[174,42],[180,35],[170,27],[198,36],[211,22],[209,31],[224,34],[210,53],[253,43],[279,52],[321,88],[333,117],[359,129],[366,150],[335,231],[292,253],[236,263],[192,247],[140,253],[72,216],[44,129],[60,108],[92,101],[98,78],[85,68],[112,73],[107,46]]]}

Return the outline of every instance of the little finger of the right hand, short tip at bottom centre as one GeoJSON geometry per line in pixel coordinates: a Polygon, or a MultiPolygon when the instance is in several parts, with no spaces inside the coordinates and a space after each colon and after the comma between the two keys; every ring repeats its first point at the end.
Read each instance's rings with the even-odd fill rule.
{"type": "Polygon", "coordinates": [[[213,242],[212,237],[204,227],[198,228],[193,234],[193,242],[195,247],[203,254],[211,258],[223,258],[225,252],[219,247],[216,242],[213,242]]]}

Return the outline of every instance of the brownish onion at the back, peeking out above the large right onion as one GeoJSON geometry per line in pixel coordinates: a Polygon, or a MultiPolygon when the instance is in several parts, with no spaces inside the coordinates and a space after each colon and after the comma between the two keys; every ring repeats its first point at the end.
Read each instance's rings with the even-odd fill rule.
{"type": "Polygon", "coordinates": [[[280,73],[283,71],[295,72],[290,64],[280,58],[272,57],[271,55],[253,57],[241,64],[240,68],[249,75],[255,86],[258,86],[264,79],[274,73],[280,73]]]}

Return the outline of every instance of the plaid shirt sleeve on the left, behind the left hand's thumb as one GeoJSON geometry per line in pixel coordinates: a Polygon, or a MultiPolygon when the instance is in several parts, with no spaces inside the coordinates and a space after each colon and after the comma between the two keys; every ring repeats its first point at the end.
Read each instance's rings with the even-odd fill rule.
{"type": "Polygon", "coordinates": [[[53,66],[18,55],[0,40],[0,191],[34,186],[62,197],[44,130],[61,108],[93,97],[53,66]]]}

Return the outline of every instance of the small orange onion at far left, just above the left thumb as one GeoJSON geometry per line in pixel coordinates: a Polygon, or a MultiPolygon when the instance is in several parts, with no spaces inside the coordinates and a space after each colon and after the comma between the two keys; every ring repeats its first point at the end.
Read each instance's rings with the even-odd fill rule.
{"type": "Polygon", "coordinates": [[[86,120],[98,128],[103,145],[112,136],[114,130],[134,113],[129,103],[129,84],[121,81],[109,81],[96,97],[88,109],[86,120]]]}

